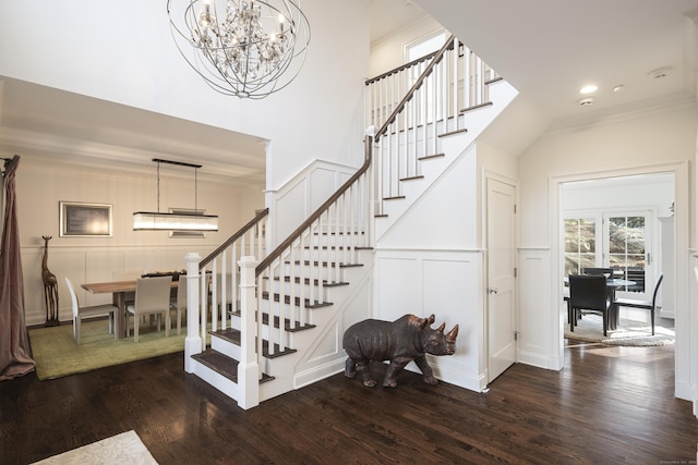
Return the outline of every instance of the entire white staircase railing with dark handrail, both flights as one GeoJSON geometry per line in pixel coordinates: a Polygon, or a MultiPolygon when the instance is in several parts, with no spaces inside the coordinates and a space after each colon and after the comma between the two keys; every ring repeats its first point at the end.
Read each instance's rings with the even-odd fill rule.
{"type": "Polygon", "coordinates": [[[269,360],[301,350],[292,347],[292,334],[313,326],[313,309],[329,305],[325,287],[346,284],[342,269],[372,248],[376,200],[420,178],[417,161],[436,155],[437,137],[465,131],[462,114],[489,103],[488,83],[495,79],[452,37],[432,56],[366,82],[369,126],[380,130],[366,135],[363,166],[336,193],[274,250],[266,249],[265,210],[204,260],[186,256],[185,370],[198,375],[192,355],[206,350],[209,330],[232,328],[234,319],[236,380],[208,382],[242,408],[257,405],[269,360]]]}

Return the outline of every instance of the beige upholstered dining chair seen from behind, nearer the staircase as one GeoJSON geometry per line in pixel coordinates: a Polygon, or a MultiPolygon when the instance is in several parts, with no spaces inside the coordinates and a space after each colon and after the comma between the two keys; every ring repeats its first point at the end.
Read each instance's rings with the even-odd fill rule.
{"type": "MultiPolygon", "coordinates": [[[[170,335],[170,290],[172,277],[139,278],[135,282],[135,301],[127,306],[127,336],[131,335],[129,315],[133,315],[133,342],[139,342],[139,317],[165,315],[165,336],[170,335]]],[[[160,318],[157,319],[160,330],[160,318]]]]}

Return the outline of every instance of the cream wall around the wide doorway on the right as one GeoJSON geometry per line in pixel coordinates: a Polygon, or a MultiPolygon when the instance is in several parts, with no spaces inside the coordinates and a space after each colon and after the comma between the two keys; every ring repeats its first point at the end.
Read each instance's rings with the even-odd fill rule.
{"type": "MultiPolygon", "coordinates": [[[[552,327],[521,329],[522,362],[546,368],[562,367],[562,325],[558,311],[561,272],[558,235],[559,185],[565,181],[638,174],[676,173],[676,394],[690,399],[689,350],[691,339],[687,277],[693,211],[689,209],[688,160],[695,158],[698,115],[694,105],[618,115],[609,121],[547,133],[519,157],[521,282],[546,276],[535,294],[521,296],[520,321],[550,321],[552,327]],[[554,224],[553,224],[554,223],[554,224]],[[531,266],[527,266],[531,264],[531,266]],[[535,266],[533,264],[539,264],[535,266]],[[551,270],[542,273],[541,270],[551,270]],[[679,280],[683,280],[679,282],[679,280]]],[[[693,317],[695,318],[695,317],[693,317]]]]}

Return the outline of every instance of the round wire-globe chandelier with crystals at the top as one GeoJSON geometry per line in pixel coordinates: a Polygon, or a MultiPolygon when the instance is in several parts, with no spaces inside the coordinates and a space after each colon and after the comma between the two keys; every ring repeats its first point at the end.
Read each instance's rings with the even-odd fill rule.
{"type": "Polygon", "coordinates": [[[215,90],[261,99],[298,75],[310,24],[298,0],[168,0],[177,48],[215,90]]]}

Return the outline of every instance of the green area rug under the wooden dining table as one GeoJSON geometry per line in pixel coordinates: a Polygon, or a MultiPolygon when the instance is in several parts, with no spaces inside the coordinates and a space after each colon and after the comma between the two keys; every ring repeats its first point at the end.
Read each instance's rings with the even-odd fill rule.
{"type": "Polygon", "coordinates": [[[177,335],[177,328],[165,336],[165,330],[141,325],[139,342],[113,339],[109,334],[107,319],[82,323],[82,344],[73,339],[73,326],[63,322],[57,327],[36,328],[28,331],[36,374],[40,380],[60,378],[96,368],[121,365],[129,362],[171,354],[184,350],[186,329],[177,335]]]}

